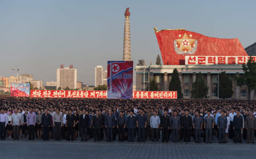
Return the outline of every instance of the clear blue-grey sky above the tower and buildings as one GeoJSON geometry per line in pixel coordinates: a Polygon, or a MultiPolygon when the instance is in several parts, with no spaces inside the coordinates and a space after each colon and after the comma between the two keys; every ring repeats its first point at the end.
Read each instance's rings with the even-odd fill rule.
{"type": "Polygon", "coordinates": [[[0,76],[16,76],[12,68],[19,68],[45,83],[56,81],[60,64],[73,64],[77,80],[94,85],[96,65],[122,60],[126,7],[134,65],[155,64],[161,55],[154,27],[238,38],[247,47],[256,42],[255,6],[249,0],[0,0],[0,76]]]}

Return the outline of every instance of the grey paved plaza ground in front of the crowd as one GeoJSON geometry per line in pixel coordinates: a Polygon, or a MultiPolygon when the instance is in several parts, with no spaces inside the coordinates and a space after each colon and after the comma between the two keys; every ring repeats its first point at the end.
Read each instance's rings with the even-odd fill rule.
{"type": "Polygon", "coordinates": [[[256,158],[256,144],[1,140],[0,158],[256,158]]]}

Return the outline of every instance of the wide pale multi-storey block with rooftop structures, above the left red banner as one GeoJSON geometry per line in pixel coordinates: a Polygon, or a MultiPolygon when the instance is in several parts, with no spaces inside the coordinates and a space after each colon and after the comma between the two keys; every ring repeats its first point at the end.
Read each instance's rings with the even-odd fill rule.
{"type": "Polygon", "coordinates": [[[63,65],[57,69],[57,89],[76,89],[77,88],[77,69],[73,69],[73,65],[64,68],[63,65]]]}

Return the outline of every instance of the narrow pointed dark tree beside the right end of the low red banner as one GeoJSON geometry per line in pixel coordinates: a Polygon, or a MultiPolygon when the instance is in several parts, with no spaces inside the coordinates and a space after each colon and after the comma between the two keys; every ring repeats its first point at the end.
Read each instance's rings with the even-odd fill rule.
{"type": "Polygon", "coordinates": [[[169,90],[177,91],[178,99],[183,98],[183,94],[181,92],[179,73],[178,73],[177,69],[173,70],[172,79],[171,79],[170,85],[169,85],[169,90]]]}

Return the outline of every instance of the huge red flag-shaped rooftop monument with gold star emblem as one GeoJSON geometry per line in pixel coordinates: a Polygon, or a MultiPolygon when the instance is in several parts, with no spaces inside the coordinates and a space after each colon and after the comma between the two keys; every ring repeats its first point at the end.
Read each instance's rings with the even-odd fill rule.
{"type": "Polygon", "coordinates": [[[248,56],[238,39],[207,37],[184,29],[156,31],[156,38],[165,65],[184,65],[186,56],[248,56]]]}

